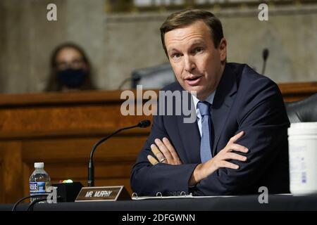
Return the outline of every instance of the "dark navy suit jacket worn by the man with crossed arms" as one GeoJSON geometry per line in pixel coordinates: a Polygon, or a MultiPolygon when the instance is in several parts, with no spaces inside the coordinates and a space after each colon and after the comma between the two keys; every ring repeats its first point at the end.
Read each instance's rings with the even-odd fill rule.
{"type": "MultiPolygon", "coordinates": [[[[163,90],[182,91],[177,82],[163,90]]],[[[137,195],[175,195],[182,191],[194,195],[242,195],[289,193],[287,127],[290,122],[278,86],[248,65],[226,63],[211,108],[211,143],[216,155],[229,139],[240,131],[236,143],[249,148],[248,160],[230,160],[239,169],[220,168],[189,188],[189,178],[200,160],[200,134],[197,122],[184,123],[184,115],[155,115],[151,134],[132,167],[131,186],[137,195]],[[151,165],[154,139],[167,137],[177,151],[182,165],[151,165]]]]}

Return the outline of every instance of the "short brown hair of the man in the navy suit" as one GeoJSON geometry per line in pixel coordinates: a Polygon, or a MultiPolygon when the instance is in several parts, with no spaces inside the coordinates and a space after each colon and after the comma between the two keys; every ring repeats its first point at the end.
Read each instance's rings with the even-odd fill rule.
{"type": "Polygon", "coordinates": [[[165,22],[161,25],[161,41],[166,56],[168,56],[164,40],[166,32],[175,30],[179,27],[192,25],[192,23],[196,22],[197,20],[203,20],[204,23],[209,27],[213,44],[216,48],[218,48],[221,39],[223,39],[223,26],[221,25],[220,20],[209,11],[203,11],[200,9],[187,9],[169,15],[165,22]]]}

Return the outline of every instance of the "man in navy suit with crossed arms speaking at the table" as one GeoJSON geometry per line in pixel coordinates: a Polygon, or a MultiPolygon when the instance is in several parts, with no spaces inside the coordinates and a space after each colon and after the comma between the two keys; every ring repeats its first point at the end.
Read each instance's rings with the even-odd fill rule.
{"type": "Polygon", "coordinates": [[[266,186],[288,193],[290,122],[278,86],[245,64],[226,63],[227,42],[212,13],[173,13],[161,39],[178,80],[163,91],[188,91],[197,120],[154,115],[132,168],[132,190],[241,195],[266,186]]]}

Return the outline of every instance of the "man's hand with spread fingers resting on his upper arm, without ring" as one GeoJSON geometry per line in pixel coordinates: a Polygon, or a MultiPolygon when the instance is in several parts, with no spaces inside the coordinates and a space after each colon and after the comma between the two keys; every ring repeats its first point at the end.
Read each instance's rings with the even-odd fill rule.
{"type": "Polygon", "coordinates": [[[240,146],[235,143],[238,139],[240,139],[244,135],[244,131],[241,131],[239,134],[233,136],[227,143],[227,146],[220,150],[220,152],[215,155],[211,160],[199,164],[192,173],[192,176],[189,179],[189,186],[193,186],[202,179],[205,179],[207,176],[215,172],[220,167],[231,168],[231,169],[239,169],[238,165],[235,165],[231,162],[227,162],[227,160],[239,160],[246,161],[247,157],[243,155],[239,155],[237,153],[232,153],[232,151],[238,151],[241,153],[247,153],[248,149],[244,146],[240,146]]]}

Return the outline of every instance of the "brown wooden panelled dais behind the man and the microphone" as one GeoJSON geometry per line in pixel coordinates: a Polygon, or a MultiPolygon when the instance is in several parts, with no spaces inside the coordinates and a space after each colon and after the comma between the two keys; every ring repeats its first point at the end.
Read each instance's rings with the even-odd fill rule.
{"type": "MultiPolygon", "coordinates": [[[[317,92],[317,82],[280,84],[285,101],[317,92]]],[[[93,144],[119,127],[147,116],[120,114],[121,91],[0,95],[0,203],[28,195],[34,162],[44,162],[53,182],[87,186],[87,162],[93,144]]],[[[135,92],[136,94],[136,92],[135,92]]],[[[96,186],[130,189],[130,169],[149,134],[132,129],[109,139],[94,155],[96,186]]]]}

